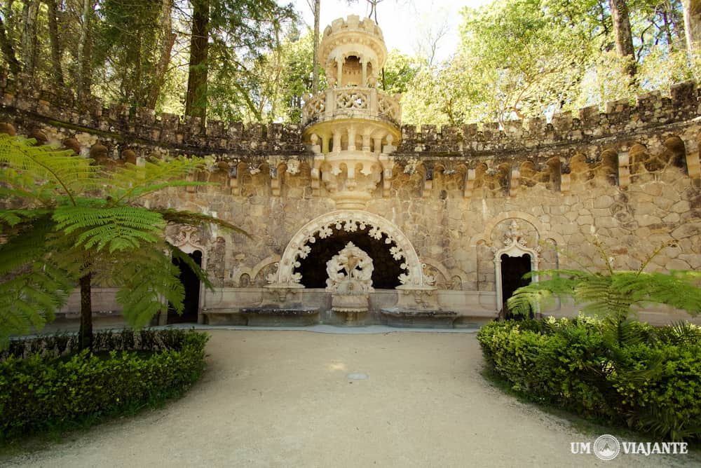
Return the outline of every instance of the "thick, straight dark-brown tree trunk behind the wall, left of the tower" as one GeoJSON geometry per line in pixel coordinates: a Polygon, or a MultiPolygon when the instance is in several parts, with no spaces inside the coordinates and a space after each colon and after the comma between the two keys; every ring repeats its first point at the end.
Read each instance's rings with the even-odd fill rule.
{"type": "Polygon", "coordinates": [[[210,1],[192,0],[190,68],[187,76],[185,115],[207,116],[207,53],[209,53],[210,1]]]}

